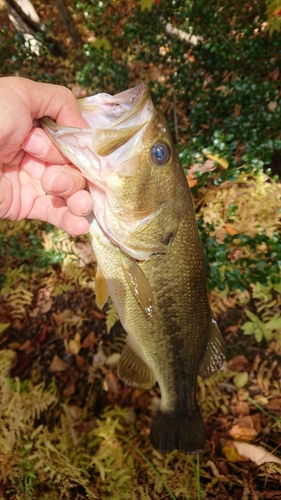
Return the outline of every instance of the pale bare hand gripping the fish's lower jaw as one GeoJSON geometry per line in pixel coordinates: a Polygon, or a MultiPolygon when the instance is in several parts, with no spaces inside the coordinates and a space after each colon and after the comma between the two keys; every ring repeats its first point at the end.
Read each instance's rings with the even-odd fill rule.
{"type": "Polygon", "coordinates": [[[71,235],[89,230],[93,203],[80,172],[40,128],[87,127],[70,90],[25,78],[0,78],[0,218],[39,219],[71,235]]]}

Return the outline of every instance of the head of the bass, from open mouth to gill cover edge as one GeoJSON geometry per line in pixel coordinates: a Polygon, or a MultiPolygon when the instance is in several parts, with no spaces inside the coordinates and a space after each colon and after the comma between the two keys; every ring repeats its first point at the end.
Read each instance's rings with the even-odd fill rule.
{"type": "Polygon", "coordinates": [[[48,118],[42,125],[88,180],[98,224],[135,259],[167,252],[182,213],[183,173],[148,87],[97,94],[78,104],[89,129],[60,127],[48,118]]]}

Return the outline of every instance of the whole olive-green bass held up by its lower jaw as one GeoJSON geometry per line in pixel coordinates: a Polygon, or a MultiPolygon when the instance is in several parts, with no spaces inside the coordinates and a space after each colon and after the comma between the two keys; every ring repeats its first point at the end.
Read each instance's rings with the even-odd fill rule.
{"type": "Polygon", "coordinates": [[[161,392],[150,440],[161,453],[200,453],[197,376],[224,360],[191,192],[165,117],[140,84],[78,101],[89,128],[41,124],[87,179],[96,303],[111,297],[127,333],[118,376],[161,392]]]}

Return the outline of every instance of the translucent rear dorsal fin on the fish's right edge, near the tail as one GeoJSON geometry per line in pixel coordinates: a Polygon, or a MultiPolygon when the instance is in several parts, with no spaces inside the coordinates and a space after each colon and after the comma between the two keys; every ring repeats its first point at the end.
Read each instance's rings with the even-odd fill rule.
{"type": "Polygon", "coordinates": [[[210,377],[216,373],[224,360],[224,340],[216,320],[212,317],[207,349],[199,365],[199,375],[210,377]]]}

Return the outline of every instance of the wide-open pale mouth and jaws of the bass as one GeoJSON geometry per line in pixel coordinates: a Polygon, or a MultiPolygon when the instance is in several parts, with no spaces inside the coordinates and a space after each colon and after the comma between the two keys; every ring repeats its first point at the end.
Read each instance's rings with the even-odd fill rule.
{"type": "Polygon", "coordinates": [[[154,109],[150,91],[142,83],[114,96],[97,94],[80,99],[78,105],[90,128],[62,127],[48,117],[40,123],[84,177],[101,187],[102,157],[115,152],[118,156],[121,146],[132,138],[141,138],[150,121],[154,109]]]}

